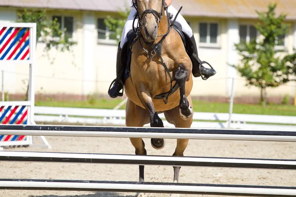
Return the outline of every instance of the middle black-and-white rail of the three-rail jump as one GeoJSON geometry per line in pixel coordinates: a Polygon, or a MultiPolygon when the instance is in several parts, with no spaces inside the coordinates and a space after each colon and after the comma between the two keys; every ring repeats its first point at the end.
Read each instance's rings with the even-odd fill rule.
{"type": "Polygon", "coordinates": [[[296,160],[291,159],[171,157],[10,151],[0,152],[0,161],[296,169],[296,160]]]}

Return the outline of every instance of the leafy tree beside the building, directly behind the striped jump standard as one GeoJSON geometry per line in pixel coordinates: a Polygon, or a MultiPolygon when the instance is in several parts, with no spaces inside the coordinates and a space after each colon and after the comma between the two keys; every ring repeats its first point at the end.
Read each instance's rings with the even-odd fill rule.
{"type": "MultiPolygon", "coordinates": [[[[17,22],[19,23],[36,23],[37,24],[37,40],[45,43],[44,52],[48,52],[51,48],[56,48],[62,52],[70,51],[71,46],[76,44],[71,41],[70,36],[66,33],[66,29],[61,29],[57,19],[51,20],[46,15],[46,10],[25,9],[18,12],[17,22]]],[[[36,43],[37,44],[37,43],[36,43]]],[[[27,87],[26,100],[28,100],[29,84],[27,87]]]]}

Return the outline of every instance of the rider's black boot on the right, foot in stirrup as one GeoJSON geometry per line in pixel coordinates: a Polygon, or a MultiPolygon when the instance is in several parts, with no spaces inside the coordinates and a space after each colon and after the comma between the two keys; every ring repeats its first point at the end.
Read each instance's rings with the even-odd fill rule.
{"type": "Polygon", "coordinates": [[[209,79],[209,77],[214,76],[216,74],[216,71],[207,62],[201,62],[199,60],[194,36],[192,36],[190,39],[192,40],[193,48],[194,48],[193,54],[190,57],[192,62],[192,74],[195,78],[200,77],[202,75],[201,76],[202,79],[207,80],[209,79]],[[205,68],[204,66],[202,66],[203,63],[208,64],[211,68],[210,69],[205,68]]]}

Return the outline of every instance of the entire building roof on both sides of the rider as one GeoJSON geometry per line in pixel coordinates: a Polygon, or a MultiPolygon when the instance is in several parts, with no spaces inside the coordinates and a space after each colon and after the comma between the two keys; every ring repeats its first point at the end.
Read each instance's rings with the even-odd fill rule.
{"type": "MultiPolygon", "coordinates": [[[[296,19],[296,0],[173,0],[176,9],[183,6],[184,16],[222,18],[257,18],[255,10],[266,11],[270,2],[277,2],[276,12],[296,19]]],[[[72,9],[117,12],[131,5],[131,0],[1,0],[0,6],[72,9]]]]}

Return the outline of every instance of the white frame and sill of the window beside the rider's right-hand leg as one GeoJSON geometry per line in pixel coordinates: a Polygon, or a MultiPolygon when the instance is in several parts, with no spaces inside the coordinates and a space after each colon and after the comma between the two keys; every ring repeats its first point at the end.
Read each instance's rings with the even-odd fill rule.
{"type": "Polygon", "coordinates": [[[198,21],[198,34],[199,34],[199,47],[210,47],[210,48],[221,48],[221,42],[220,42],[220,33],[221,33],[221,23],[219,21],[198,21]],[[200,42],[200,23],[206,23],[207,24],[207,42],[200,42]],[[210,24],[216,23],[218,25],[217,30],[217,43],[210,43],[211,37],[210,37],[210,24]]]}

